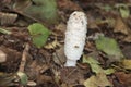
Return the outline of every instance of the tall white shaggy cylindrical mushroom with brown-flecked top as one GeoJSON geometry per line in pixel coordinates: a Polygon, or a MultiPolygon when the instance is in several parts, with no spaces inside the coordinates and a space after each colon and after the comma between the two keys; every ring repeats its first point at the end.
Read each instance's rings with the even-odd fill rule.
{"type": "Polygon", "coordinates": [[[70,15],[64,39],[66,66],[75,66],[76,60],[81,58],[87,33],[86,25],[87,18],[83,12],[75,11],[70,15]]]}

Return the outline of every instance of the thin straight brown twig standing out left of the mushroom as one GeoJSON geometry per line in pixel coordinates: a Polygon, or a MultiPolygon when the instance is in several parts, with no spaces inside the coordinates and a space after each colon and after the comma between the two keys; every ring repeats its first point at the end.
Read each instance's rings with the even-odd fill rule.
{"type": "Polygon", "coordinates": [[[24,72],[28,50],[29,50],[29,45],[26,44],[25,49],[24,49],[23,54],[22,54],[22,61],[21,61],[21,64],[20,64],[19,72],[24,72]]]}

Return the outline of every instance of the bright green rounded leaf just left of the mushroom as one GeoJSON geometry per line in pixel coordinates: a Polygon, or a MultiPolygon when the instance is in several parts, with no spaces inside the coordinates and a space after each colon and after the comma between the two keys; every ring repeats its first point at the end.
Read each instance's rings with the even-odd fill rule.
{"type": "Polygon", "coordinates": [[[39,23],[34,23],[29,25],[27,28],[29,30],[29,34],[32,35],[33,44],[37,48],[43,47],[50,35],[50,30],[48,30],[44,25],[39,23]]]}

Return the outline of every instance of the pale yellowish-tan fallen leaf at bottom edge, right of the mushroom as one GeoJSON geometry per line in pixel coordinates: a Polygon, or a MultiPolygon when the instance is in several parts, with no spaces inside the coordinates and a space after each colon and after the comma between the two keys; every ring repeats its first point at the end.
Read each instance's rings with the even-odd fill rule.
{"type": "Polygon", "coordinates": [[[104,73],[96,74],[96,76],[91,76],[84,82],[85,87],[112,87],[112,84],[107,79],[104,73]]]}

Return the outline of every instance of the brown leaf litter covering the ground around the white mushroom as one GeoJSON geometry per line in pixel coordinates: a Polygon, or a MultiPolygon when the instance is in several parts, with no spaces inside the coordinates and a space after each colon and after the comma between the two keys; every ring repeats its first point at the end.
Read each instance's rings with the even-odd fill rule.
{"type": "Polygon", "coordinates": [[[0,2],[0,54],[4,54],[0,59],[0,86],[130,87],[131,1],[45,1],[47,5],[43,0],[0,2]],[[78,66],[64,67],[64,32],[68,17],[75,10],[84,11],[88,17],[87,40],[78,66]],[[43,26],[35,28],[35,33],[41,29],[41,35],[27,30],[33,23],[43,26]],[[37,35],[40,39],[37,37],[38,41],[33,42],[37,35]],[[20,63],[26,44],[31,48],[22,67],[20,63]],[[24,77],[17,77],[21,67],[24,77]]]}

